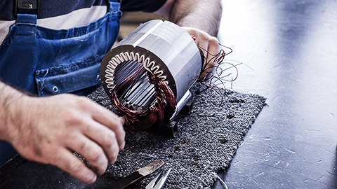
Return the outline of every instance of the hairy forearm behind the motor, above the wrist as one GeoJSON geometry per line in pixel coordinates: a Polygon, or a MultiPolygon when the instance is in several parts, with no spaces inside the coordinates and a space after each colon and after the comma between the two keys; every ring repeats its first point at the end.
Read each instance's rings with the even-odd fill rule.
{"type": "Polygon", "coordinates": [[[171,8],[170,20],[182,27],[194,27],[216,36],[221,12],[220,0],[176,0],[171,8]]]}

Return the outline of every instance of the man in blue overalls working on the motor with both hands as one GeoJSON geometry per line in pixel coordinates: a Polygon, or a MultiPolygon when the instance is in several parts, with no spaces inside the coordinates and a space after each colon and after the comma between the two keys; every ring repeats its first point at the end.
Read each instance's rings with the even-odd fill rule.
{"type": "Polygon", "coordinates": [[[1,165],[17,151],[93,183],[117,159],[124,120],[83,96],[100,85],[100,61],[117,38],[121,10],[163,15],[201,48],[219,50],[220,0],[19,2],[0,2],[1,165]]]}

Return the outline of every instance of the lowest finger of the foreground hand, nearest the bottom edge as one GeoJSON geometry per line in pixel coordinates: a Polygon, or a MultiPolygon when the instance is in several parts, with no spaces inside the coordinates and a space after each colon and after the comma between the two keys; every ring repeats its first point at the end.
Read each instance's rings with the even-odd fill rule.
{"type": "Polygon", "coordinates": [[[88,169],[79,158],[76,158],[67,149],[60,148],[57,155],[54,155],[53,157],[53,162],[51,162],[52,165],[70,173],[72,176],[85,183],[95,182],[97,175],[91,171],[91,169],[88,169]]]}

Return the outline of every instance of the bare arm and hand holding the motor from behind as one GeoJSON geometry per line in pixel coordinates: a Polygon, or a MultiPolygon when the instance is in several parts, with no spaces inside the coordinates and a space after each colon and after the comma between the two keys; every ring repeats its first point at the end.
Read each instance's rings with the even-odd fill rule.
{"type": "MultiPolygon", "coordinates": [[[[197,38],[195,43],[204,49],[208,62],[211,54],[219,52],[219,41],[215,36],[218,34],[221,12],[220,0],[167,0],[156,13],[170,18],[197,38]]],[[[215,63],[207,65],[211,66],[215,66],[215,63]]],[[[199,78],[204,78],[206,74],[201,73],[199,78]]]]}

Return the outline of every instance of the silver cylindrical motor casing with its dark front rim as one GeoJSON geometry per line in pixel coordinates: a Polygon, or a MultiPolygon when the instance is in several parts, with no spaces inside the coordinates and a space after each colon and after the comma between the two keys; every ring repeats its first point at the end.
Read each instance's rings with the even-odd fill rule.
{"type": "MultiPolygon", "coordinates": [[[[128,61],[143,63],[147,71],[164,80],[177,102],[186,101],[189,96],[186,93],[201,71],[200,52],[190,34],[178,25],[162,20],[150,20],[140,25],[107,52],[100,66],[107,94],[110,95],[117,84],[115,70],[128,61]]],[[[177,107],[177,111],[180,109],[177,107]]]]}

